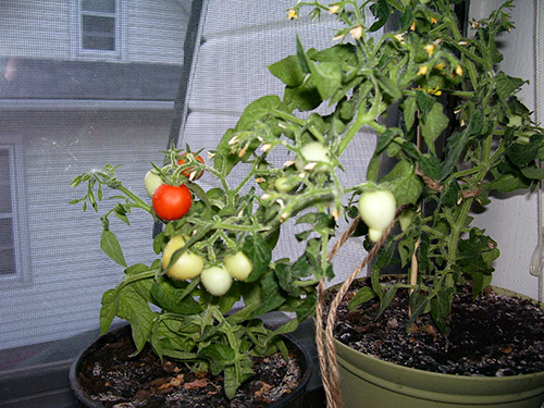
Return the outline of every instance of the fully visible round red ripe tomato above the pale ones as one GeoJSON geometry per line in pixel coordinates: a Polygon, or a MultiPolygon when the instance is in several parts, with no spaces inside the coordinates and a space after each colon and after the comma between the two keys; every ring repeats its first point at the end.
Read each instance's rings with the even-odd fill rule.
{"type": "Polygon", "coordinates": [[[153,193],[152,206],[161,220],[178,220],[187,213],[193,203],[193,196],[186,185],[178,187],[161,184],[153,193]]]}

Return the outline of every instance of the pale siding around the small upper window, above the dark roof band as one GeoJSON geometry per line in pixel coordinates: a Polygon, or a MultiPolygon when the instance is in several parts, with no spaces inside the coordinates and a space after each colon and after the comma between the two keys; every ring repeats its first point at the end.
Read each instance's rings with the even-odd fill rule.
{"type": "Polygon", "coordinates": [[[3,0],[0,2],[0,58],[183,62],[189,1],[121,0],[119,58],[78,55],[76,1],[3,0]],[[5,35],[9,33],[10,35],[5,35]]]}

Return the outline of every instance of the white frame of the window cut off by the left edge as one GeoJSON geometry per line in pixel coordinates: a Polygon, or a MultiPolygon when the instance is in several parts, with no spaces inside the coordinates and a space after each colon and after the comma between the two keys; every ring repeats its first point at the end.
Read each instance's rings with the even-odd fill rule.
{"type": "MultiPolygon", "coordinates": [[[[2,137],[3,138],[3,137],[2,137]]],[[[0,143],[0,150],[8,150],[11,189],[11,219],[13,227],[14,273],[0,274],[0,288],[13,288],[32,281],[30,246],[27,225],[27,206],[25,196],[25,174],[23,147],[17,141],[0,143]]]]}

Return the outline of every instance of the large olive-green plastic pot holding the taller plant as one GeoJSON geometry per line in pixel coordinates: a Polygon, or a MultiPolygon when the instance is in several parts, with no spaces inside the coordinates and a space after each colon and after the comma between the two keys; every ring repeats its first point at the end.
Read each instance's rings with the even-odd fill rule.
{"type": "Polygon", "coordinates": [[[382,361],[337,341],[335,346],[345,408],[541,408],[544,403],[544,372],[503,378],[442,374],[382,361]]]}

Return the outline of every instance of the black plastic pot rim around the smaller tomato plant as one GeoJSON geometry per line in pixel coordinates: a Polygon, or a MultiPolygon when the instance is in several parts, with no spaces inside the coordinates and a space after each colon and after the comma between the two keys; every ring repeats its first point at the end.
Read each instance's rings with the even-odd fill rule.
{"type": "MultiPolygon", "coordinates": [[[[89,347],[87,347],[85,350],[83,350],[77,358],[74,360],[72,363],[72,367],[70,368],[70,373],[69,373],[69,380],[70,380],[70,385],[76,395],[77,399],[82,403],[82,406],[88,407],[88,408],[104,408],[102,404],[99,404],[95,401],[83,388],[81,382],[79,382],[79,372],[82,370],[82,364],[85,358],[89,355],[91,355],[95,350],[101,348],[103,345],[106,345],[108,342],[111,341],[111,337],[113,335],[116,335],[119,333],[122,333],[122,331],[126,332],[127,335],[129,335],[131,326],[129,325],[124,325],[119,329],[115,329],[114,331],[111,331],[103,336],[100,336],[97,338],[92,344],[90,344],[89,347]]],[[[275,403],[271,404],[269,407],[270,408],[302,408],[304,407],[304,399],[306,396],[308,383],[310,381],[311,376],[311,371],[312,371],[312,359],[310,357],[310,354],[306,349],[306,347],[296,338],[289,336],[289,335],[283,335],[285,343],[288,345],[290,344],[294,348],[296,348],[301,356],[299,364],[300,369],[302,370],[304,374],[302,378],[300,379],[300,383],[298,386],[288,395],[286,395],[284,398],[276,400],[275,403]]],[[[289,347],[289,346],[288,346],[289,347]]]]}

